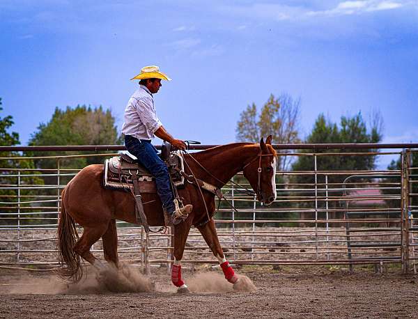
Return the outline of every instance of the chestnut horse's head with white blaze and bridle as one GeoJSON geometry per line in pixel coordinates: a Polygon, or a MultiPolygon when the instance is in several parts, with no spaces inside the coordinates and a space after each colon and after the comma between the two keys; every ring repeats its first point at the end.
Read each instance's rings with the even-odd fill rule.
{"type": "Polygon", "coordinates": [[[276,163],[277,153],[272,148],[272,136],[261,138],[258,156],[242,169],[245,178],[256,192],[257,200],[270,205],[276,194],[276,163]]]}

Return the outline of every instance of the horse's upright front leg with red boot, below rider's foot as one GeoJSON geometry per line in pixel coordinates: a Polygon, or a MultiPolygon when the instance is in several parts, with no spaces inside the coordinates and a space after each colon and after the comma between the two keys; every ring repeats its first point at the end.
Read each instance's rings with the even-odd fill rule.
{"type": "Polygon", "coordinates": [[[181,277],[181,260],[185,251],[187,236],[189,235],[191,221],[186,219],[183,223],[174,226],[174,263],[171,267],[171,282],[178,288],[178,293],[188,293],[189,288],[181,277]]]}

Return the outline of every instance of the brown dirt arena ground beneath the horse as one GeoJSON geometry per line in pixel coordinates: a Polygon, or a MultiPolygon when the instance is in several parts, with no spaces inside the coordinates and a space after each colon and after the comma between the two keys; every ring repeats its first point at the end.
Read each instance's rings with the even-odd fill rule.
{"type": "Polygon", "coordinates": [[[153,292],[146,291],[150,290],[148,278],[132,267],[125,277],[104,282],[90,273],[82,283],[72,286],[51,274],[1,270],[0,318],[418,316],[418,277],[400,274],[399,270],[375,274],[365,268],[349,274],[342,267],[272,270],[271,266],[245,266],[237,272],[249,277],[257,290],[234,291],[219,269],[185,271],[183,277],[192,290],[188,294],[176,293],[167,270],[153,270],[153,292]]]}

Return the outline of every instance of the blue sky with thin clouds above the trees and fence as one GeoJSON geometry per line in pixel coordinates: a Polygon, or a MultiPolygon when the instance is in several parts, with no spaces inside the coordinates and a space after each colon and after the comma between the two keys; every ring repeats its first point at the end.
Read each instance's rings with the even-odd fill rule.
{"type": "Polygon", "coordinates": [[[417,0],[0,0],[1,116],[22,144],[67,105],[102,104],[120,128],[151,64],[173,79],[155,104],[180,139],[235,141],[248,104],[286,92],[302,138],[321,112],[378,109],[384,142],[418,141],[417,0]]]}

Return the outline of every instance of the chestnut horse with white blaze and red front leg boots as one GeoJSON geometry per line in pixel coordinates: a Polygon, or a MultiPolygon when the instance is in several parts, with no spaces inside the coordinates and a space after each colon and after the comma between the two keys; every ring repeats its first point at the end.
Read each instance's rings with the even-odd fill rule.
{"type": "MultiPolygon", "coordinates": [[[[257,194],[258,201],[270,205],[276,198],[275,171],[276,151],[271,146],[271,136],[260,143],[231,143],[209,148],[201,152],[184,155],[187,162],[185,173],[196,176],[216,187],[223,187],[236,173],[243,171],[245,178],[257,194]],[[194,160],[192,158],[193,157],[194,160]],[[198,164],[199,162],[199,164],[198,164]],[[203,169],[203,168],[205,169],[203,169]],[[192,172],[191,172],[191,171],[192,172]]],[[[116,219],[136,223],[134,198],[130,193],[104,189],[103,165],[86,166],[72,178],[63,189],[61,218],[58,226],[59,258],[63,267],[61,274],[72,281],[82,278],[81,258],[95,268],[104,265],[91,254],[90,248],[102,238],[104,259],[118,267],[118,237],[116,219]],[[75,223],[84,228],[78,238],[75,223]]],[[[180,260],[191,226],[199,229],[201,235],[219,260],[225,278],[235,283],[238,277],[224,257],[219,244],[215,221],[206,212],[206,202],[210,217],[215,214],[215,194],[200,191],[186,182],[178,193],[184,204],[192,204],[193,210],[182,223],[174,226],[174,257],[171,281],[180,289],[186,289],[181,278],[180,260]],[[203,195],[203,199],[202,199],[203,195]]],[[[143,194],[144,210],[150,226],[164,226],[162,203],[157,194],[143,194]],[[147,203],[149,202],[149,203],[147,203]]]]}

